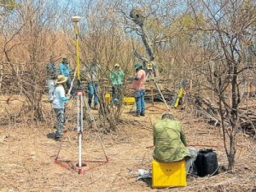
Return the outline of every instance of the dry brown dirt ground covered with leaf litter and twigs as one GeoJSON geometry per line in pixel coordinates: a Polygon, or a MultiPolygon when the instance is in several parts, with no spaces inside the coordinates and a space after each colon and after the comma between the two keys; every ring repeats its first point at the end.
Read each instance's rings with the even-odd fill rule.
{"type": "MultiPolygon", "coordinates": [[[[165,111],[164,104],[148,108],[145,117],[133,117],[129,113],[131,106],[126,106],[117,131],[108,134],[97,135],[84,125],[82,159],[86,166],[79,175],[67,169],[76,166],[79,151],[78,135],[73,131],[76,120],[68,114],[72,108],[67,109],[70,121],[61,145],[53,139],[54,115],[46,115],[48,120],[38,125],[32,124],[26,114],[21,114],[22,123],[15,115],[6,120],[6,113],[18,112],[23,101],[14,96],[7,104],[6,99],[0,96],[0,191],[256,191],[255,139],[237,132],[236,170],[226,172],[227,158],[219,128],[192,118],[189,111],[171,110],[175,119],[182,122],[190,145],[196,149],[203,146],[216,149],[219,173],[212,177],[188,176],[184,188],[152,189],[150,179],[137,180],[137,170],[151,168],[152,125],[165,111]],[[105,163],[100,138],[108,157],[105,163]],[[56,164],[60,145],[59,164],[56,164]]],[[[44,113],[49,111],[49,103],[44,102],[44,113]]]]}

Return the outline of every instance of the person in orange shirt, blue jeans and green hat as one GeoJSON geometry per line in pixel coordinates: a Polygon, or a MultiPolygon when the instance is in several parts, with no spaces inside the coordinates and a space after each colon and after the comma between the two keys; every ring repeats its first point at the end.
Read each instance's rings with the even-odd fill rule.
{"type": "Polygon", "coordinates": [[[136,102],[136,116],[145,116],[145,81],[146,73],[143,70],[143,65],[140,63],[135,64],[135,75],[132,80],[132,89],[135,90],[135,102],[136,102]]]}

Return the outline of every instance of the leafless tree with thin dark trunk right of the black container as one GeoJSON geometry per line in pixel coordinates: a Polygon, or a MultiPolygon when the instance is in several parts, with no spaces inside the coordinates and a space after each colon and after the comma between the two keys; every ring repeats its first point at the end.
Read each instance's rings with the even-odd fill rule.
{"type": "Polygon", "coordinates": [[[247,62],[247,48],[255,32],[255,3],[233,0],[197,1],[196,6],[194,3],[191,8],[195,16],[203,13],[203,19],[207,21],[207,25],[197,26],[198,31],[204,32],[202,46],[205,46],[206,55],[210,54],[203,61],[207,71],[201,75],[205,75],[210,83],[204,84],[204,88],[214,90],[218,96],[224,148],[229,170],[234,170],[243,73],[255,67],[255,63],[248,65],[247,62]]]}

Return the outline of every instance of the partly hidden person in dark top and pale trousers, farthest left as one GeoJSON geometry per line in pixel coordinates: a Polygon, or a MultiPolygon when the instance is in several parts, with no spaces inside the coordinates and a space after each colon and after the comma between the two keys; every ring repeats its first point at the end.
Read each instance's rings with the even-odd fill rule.
{"type": "Polygon", "coordinates": [[[47,86],[49,102],[53,102],[54,100],[55,79],[57,78],[57,75],[58,72],[55,67],[54,57],[50,56],[49,63],[47,64],[47,86]]]}

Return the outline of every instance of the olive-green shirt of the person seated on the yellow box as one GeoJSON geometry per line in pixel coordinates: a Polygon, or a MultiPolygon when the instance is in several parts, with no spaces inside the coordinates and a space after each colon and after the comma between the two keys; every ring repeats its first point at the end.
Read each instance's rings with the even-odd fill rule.
{"type": "Polygon", "coordinates": [[[173,162],[190,157],[187,138],[182,125],[173,119],[162,119],[154,124],[154,160],[160,162],[173,162]]]}

